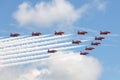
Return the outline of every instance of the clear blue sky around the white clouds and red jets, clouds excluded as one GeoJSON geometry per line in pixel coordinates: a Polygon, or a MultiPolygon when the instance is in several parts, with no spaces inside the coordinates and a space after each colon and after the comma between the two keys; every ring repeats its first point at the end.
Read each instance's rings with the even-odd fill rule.
{"type": "MultiPolygon", "coordinates": [[[[119,0],[95,0],[98,2],[94,2],[93,0],[67,0],[70,2],[74,10],[78,10],[85,4],[89,4],[89,8],[84,11],[79,18],[71,18],[75,19],[71,24],[63,23],[61,20],[58,20],[57,23],[54,24],[55,21],[52,22],[52,25],[49,21],[46,22],[48,25],[40,24],[40,26],[31,25],[29,23],[20,25],[20,22],[17,20],[18,18],[14,17],[14,13],[18,10],[18,6],[23,4],[24,2],[28,2],[33,7],[37,3],[45,1],[51,2],[51,0],[12,0],[5,1],[1,0],[0,2],[0,36],[8,37],[11,32],[18,32],[23,35],[29,35],[32,31],[41,31],[43,34],[54,32],[56,29],[67,31],[66,29],[73,29],[73,32],[77,29],[86,29],[93,31],[110,31],[110,36],[105,36],[106,39],[102,41],[102,44],[96,47],[95,50],[91,51],[90,56],[97,58],[103,66],[102,75],[99,80],[120,80],[120,10],[119,10],[119,0]],[[99,8],[102,5],[102,8],[99,8]],[[60,21],[60,22],[59,22],[60,21]],[[60,24],[62,23],[62,24],[60,24]],[[60,26],[71,26],[65,28],[65,30],[59,27],[60,26]],[[46,27],[47,26],[47,27],[46,27]],[[56,27],[57,26],[57,27],[56,27]]],[[[74,15],[75,13],[73,13],[74,15]]],[[[71,14],[72,15],[72,14],[71,14]]],[[[76,11],[77,15],[77,11],[76,11]]],[[[71,21],[70,19],[70,21],[71,21]]],[[[63,19],[64,20],[64,19],[63,19]]],[[[65,19],[66,21],[66,19],[65,19]]],[[[68,20],[69,23],[69,20],[68,20]]],[[[72,31],[70,31],[72,32],[72,31]]],[[[68,33],[70,33],[68,32],[68,33]]],[[[93,32],[92,32],[93,33],[93,32]]],[[[88,34],[89,35],[89,34],[88,34]]],[[[98,35],[93,33],[94,36],[98,35]]],[[[83,49],[81,49],[83,50],[83,49]]]]}

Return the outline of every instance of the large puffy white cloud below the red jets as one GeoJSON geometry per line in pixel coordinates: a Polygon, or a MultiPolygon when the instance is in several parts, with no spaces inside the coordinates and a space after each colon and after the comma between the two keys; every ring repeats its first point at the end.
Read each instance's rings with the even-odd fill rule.
{"type": "MultiPolygon", "coordinates": [[[[101,65],[93,57],[76,53],[54,54],[44,62],[44,69],[30,68],[17,80],[98,80],[101,65]]],[[[41,66],[37,65],[37,66],[41,66]]]]}

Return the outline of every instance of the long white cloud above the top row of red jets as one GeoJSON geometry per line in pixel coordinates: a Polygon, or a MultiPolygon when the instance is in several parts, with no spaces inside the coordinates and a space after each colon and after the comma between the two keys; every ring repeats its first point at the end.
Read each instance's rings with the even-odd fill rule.
{"type": "Polygon", "coordinates": [[[70,24],[80,18],[89,8],[84,4],[81,8],[75,9],[67,0],[51,0],[51,2],[40,2],[35,6],[24,2],[19,5],[13,17],[21,26],[36,25],[50,26],[53,24],[70,24]]]}

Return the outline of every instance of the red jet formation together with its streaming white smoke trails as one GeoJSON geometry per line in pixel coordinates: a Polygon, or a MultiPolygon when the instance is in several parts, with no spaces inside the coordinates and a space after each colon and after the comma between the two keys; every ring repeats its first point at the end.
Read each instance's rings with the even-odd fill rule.
{"type": "MultiPolygon", "coordinates": [[[[87,31],[76,32],[77,37],[89,34],[87,31]]],[[[90,46],[82,45],[85,41],[82,39],[71,39],[72,34],[66,34],[63,31],[55,31],[54,34],[43,35],[41,32],[32,32],[31,36],[25,37],[19,33],[11,33],[9,38],[0,39],[0,63],[1,66],[12,66],[26,64],[36,61],[46,60],[43,57],[57,54],[59,51],[72,50],[84,47],[80,55],[86,56],[89,51],[99,46],[109,31],[100,31],[99,36],[93,37],[90,46]],[[68,41],[70,40],[70,41],[68,41]]]]}

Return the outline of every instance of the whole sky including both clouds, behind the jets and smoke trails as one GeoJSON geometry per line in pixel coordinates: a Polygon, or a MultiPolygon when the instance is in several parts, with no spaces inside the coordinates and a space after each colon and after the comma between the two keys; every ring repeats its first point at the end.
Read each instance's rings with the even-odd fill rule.
{"type": "MultiPolygon", "coordinates": [[[[10,33],[29,36],[36,31],[45,35],[54,31],[75,34],[78,30],[85,30],[89,32],[88,37],[99,36],[99,31],[110,31],[111,34],[106,35],[95,50],[89,51],[88,57],[75,54],[84,51],[84,47],[72,49],[73,52],[67,52],[70,54],[65,59],[1,68],[0,73],[3,75],[0,80],[120,80],[119,3],[119,0],[1,0],[0,37],[3,38],[8,38],[10,33]],[[79,72],[82,70],[83,74],[79,72]]],[[[66,56],[64,53],[58,55],[66,56]]],[[[58,55],[54,54],[51,58],[58,55]]]]}

